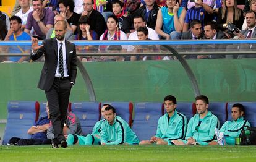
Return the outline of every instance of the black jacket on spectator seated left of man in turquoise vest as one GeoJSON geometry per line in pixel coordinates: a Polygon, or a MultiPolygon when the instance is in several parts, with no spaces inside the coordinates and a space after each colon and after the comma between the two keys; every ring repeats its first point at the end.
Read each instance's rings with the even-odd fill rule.
{"type": "Polygon", "coordinates": [[[150,14],[148,15],[148,19],[145,19],[145,12],[147,11],[146,6],[143,5],[136,11],[134,11],[132,14],[126,17],[122,23],[122,28],[125,33],[130,33],[130,29],[134,29],[134,17],[136,15],[142,15],[145,19],[145,22],[147,23],[147,27],[153,28],[155,30],[156,27],[156,18],[157,18],[157,13],[160,7],[156,4],[154,4],[153,9],[151,10],[150,14]]]}

